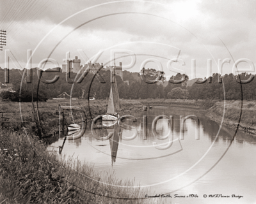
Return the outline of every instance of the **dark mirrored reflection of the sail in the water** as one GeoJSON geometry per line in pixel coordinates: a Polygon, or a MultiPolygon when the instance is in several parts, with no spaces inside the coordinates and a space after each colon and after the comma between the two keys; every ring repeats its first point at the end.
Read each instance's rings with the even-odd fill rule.
{"type": "Polygon", "coordinates": [[[111,150],[111,161],[115,162],[117,150],[118,150],[119,135],[122,134],[121,128],[120,128],[120,126],[118,126],[116,124],[113,129],[107,129],[107,131],[108,131],[108,135],[109,135],[109,133],[113,133],[111,138],[109,138],[109,145],[110,145],[110,150],[111,150]]]}

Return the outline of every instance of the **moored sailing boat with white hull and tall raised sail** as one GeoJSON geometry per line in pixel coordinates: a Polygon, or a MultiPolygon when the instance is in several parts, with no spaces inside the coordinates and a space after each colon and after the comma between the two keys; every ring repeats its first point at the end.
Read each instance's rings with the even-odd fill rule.
{"type": "Polygon", "coordinates": [[[102,125],[106,127],[111,127],[118,122],[119,115],[118,112],[120,110],[120,100],[118,89],[115,80],[115,67],[112,66],[110,73],[110,94],[108,100],[108,110],[106,115],[102,115],[102,125]]]}

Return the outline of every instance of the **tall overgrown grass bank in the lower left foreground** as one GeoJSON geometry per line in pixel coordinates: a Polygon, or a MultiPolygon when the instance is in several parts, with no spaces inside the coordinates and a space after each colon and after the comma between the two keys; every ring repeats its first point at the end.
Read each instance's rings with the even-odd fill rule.
{"type": "MultiPolygon", "coordinates": [[[[0,203],[155,203],[147,192],[92,166],[48,152],[35,136],[0,129],[0,203]],[[90,179],[92,178],[92,179],[90,179]],[[110,184],[110,185],[107,185],[110,184]],[[115,186],[117,185],[117,186],[115,186]],[[127,200],[116,199],[127,198],[127,200]]],[[[163,200],[157,200],[162,203],[163,200]]]]}

